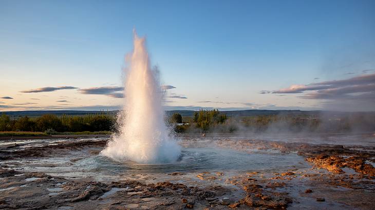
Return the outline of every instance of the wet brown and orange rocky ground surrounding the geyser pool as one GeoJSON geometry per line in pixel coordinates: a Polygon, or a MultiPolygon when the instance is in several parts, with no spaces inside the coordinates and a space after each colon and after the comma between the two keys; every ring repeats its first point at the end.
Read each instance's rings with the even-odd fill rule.
{"type": "MultiPolygon", "coordinates": [[[[363,145],[190,139],[180,144],[192,148],[217,146],[249,155],[265,152],[301,158],[278,171],[176,171],[161,175],[164,181],[144,174],[99,181],[95,176],[59,176],[46,171],[23,170],[27,159],[64,156],[74,151],[84,151],[87,156],[98,155],[106,141],[77,139],[1,145],[0,208],[373,209],[375,148],[363,145]],[[11,164],[16,162],[18,165],[11,164]],[[308,167],[299,166],[304,164],[308,167]]],[[[72,164],[83,158],[70,156],[72,164]]],[[[267,167],[264,165],[264,169],[267,167]]]]}

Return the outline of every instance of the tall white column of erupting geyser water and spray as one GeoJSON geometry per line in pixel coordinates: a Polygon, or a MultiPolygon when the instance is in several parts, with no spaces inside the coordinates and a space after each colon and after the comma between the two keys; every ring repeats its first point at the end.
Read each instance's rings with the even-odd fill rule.
{"type": "Polygon", "coordinates": [[[128,59],[123,117],[118,119],[120,133],[113,136],[101,154],[117,161],[138,163],[176,161],[180,147],[168,137],[158,72],[149,64],[145,38],[136,33],[134,51],[128,59]]]}

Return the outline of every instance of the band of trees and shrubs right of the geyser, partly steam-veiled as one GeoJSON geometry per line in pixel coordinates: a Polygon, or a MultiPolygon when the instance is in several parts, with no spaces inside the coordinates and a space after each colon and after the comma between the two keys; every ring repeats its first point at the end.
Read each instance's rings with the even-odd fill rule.
{"type": "MultiPolygon", "coordinates": [[[[237,111],[235,111],[237,112],[237,111]]],[[[226,112],[228,113],[228,112],[226,112]]],[[[227,117],[218,110],[195,112],[192,117],[183,117],[183,125],[174,129],[184,132],[374,132],[375,113],[339,113],[314,112],[305,114],[301,111],[287,114],[266,114],[254,116],[227,117]]]]}

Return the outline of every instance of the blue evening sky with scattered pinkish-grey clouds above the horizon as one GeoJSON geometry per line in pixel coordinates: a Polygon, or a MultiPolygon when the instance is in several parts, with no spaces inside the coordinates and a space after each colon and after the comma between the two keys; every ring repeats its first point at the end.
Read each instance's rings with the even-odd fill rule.
{"type": "Polygon", "coordinates": [[[116,110],[133,29],[165,109],[375,111],[375,1],[0,0],[0,111],[116,110]]]}

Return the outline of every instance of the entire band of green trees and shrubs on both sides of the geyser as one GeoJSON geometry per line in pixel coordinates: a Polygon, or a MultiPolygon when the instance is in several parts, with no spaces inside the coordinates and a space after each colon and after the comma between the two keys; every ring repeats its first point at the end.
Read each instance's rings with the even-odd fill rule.
{"type": "MultiPolygon", "coordinates": [[[[247,111],[249,112],[249,111],[247,111]]],[[[237,115],[242,111],[170,112],[166,123],[176,133],[232,132],[374,132],[375,113],[318,111],[257,111],[257,115],[237,115]],[[267,114],[259,114],[267,113],[267,114]],[[276,114],[268,114],[276,113],[276,114]]],[[[246,113],[245,113],[246,114],[246,113]]],[[[40,117],[0,115],[1,135],[100,135],[115,132],[116,113],[101,112],[83,115],[44,114],[40,117]],[[17,131],[22,131],[18,133],[17,131]],[[25,133],[25,132],[26,133],[25,133]],[[4,133],[6,132],[6,133],[4,133]],[[8,133],[7,133],[8,132],[8,133]],[[13,133],[12,133],[13,132],[13,133]],[[31,133],[27,133],[31,132],[31,133]],[[36,132],[36,133],[35,133],[36,132]],[[11,134],[12,133],[12,134],[11,134]]]]}

